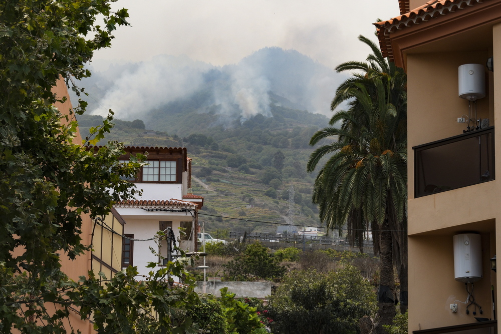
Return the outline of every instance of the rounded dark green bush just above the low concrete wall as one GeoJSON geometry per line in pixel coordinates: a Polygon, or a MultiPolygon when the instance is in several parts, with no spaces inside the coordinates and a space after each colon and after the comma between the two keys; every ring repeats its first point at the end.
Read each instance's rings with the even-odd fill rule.
{"type": "Polygon", "coordinates": [[[276,279],[286,271],[280,265],[280,259],[268,253],[268,249],[259,242],[248,245],[240,255],[224,266],[224,280],[227,281],[276,279]]]}

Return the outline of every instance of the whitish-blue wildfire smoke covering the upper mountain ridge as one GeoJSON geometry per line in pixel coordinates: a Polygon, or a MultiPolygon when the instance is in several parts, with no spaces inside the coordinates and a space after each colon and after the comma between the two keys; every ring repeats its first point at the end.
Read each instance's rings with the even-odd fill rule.
{"type": "MultiPolygon", "coordinates": [[[[186,56],[157,56],[136,64],[93,70],[88,79],[89,110],[119,119],[148,119],[169,103],[209,92],[199,112],[216,112],[221,123],[270,117],[270,103],[330,115],[330,102],[344,77],[294,50],[265,48],[238,64],[215,67],[186,56]],[[94,89],[94,91],[93,91],[94,89]],[[273,93],[273,94],[272,94],[273,93]],[[272,98],[273,96],[273,98],[272,98]],[[216,108],[214,108],[214,106],[216,108]]],[[[86,81],[82,83],[86,87],[86,81]]]]}

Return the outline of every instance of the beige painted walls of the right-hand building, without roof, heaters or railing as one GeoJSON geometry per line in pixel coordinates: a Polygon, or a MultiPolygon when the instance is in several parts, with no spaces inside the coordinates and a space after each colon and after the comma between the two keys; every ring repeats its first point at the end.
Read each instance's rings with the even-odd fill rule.
{"type": "MultiPolygon", "coordinates": [[[[422,5],[411,1],[411,8],[422,5]]],[[[468,101],[458,97],[459,65],[485,64],[494,55],[501,64],[501,27],[493,28],[493,47],[469,52],[412,53],[407,57],[408,75],[408,235],[409,235],[409,332],[476,322],[474,316],[492,318],[491,285],[496,298],[497,275],[489,258],[501,249],[501,185],[499,180],[414,198],[414,152],[411,147],[459,135],[466,127],[457,118],[468,114],[468,101]],[[482,236],[483,278],[474,283],[474,297],[483,314],[465,314],[464,283],[454,279],[452,236],[477,232],[482,236]],[[456,313],[449,305],[458,303],[456,313]]],[[[487,96],[477,102],[478,117],[497,122],[501,105],[501,72],[486,73],[487,96]]],[[[463,116],[464,117],[464,116],[463,116]]],[[[495,147],[501,148],[501,131],[495,129],[495,147]]],[[[497,149],[495,165],[501,166],[497,149]]],[[[464,157],[468,159],[467,156],[464,157]]],[[[499,168],[496,168],[498,171],[499,168]]],[[[451,171],[453,172],[453,171],[451,171]]],[[[501,177],[499,172],[497,178],[501,177]]],[[[497,316],[496,316],[497,317],[497,316]]]]}

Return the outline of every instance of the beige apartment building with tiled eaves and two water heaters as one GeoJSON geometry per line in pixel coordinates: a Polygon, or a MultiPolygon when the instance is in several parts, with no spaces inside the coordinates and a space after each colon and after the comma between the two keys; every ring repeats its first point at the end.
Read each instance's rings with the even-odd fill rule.
{"type": "Polygon", "coordinates": [[[408,76],[409,333],[496,333],[501,0],[399,5],[375,25],[408,76]]]}

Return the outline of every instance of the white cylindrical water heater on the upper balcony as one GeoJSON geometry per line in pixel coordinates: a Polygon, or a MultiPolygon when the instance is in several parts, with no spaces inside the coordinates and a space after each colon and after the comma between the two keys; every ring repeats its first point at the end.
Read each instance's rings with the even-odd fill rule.
{"type": "Polygon", "coordinates": [[[485,97],[485,67],[481,64],[464,64],[458,67],[459,97],[475,101],[485,97]]]}

